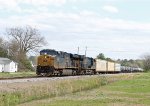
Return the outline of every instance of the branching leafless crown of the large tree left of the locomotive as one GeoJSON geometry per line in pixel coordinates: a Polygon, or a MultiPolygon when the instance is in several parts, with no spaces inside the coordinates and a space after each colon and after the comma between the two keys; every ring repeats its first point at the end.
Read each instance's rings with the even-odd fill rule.
{"type": "Polygon", "coordinates": [[[17,51],[21,55],[37,51],[45,44],[44,37],[40,35],[39,30],[30,26],[9,28],[6,29],[6,34],[11,38],[11,46],[18,46],[17,51]]]}

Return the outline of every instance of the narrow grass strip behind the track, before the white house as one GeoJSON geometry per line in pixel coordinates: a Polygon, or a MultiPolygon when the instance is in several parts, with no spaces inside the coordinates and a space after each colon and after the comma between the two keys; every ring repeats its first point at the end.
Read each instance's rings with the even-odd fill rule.
{"type": "Polygon", "coordinates": [[[0,73],[0,78],[12,78],[12,77],[27,77],[35,76],[35,72],[14,72],[14,73],[0,73]]]}

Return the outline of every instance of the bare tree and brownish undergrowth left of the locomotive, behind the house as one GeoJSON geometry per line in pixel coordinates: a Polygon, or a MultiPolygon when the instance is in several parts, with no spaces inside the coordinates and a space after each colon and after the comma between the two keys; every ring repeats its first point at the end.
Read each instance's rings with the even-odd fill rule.
{"type": "Polygon", "coordinates": [[[33,70],[27,54],[46,44],[39,30],[31,26],[7,28],[5,36],[7,40],[0,37],[0,57],[17,62],[19,70],[33,70]]]}

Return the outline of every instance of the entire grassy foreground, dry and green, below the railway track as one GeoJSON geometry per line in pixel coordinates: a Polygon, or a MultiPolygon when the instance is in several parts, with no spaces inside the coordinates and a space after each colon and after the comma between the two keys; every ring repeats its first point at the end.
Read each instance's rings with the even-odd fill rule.
{"type": "Polygon", "coordinates": [[[0,84],[0,88],[0,106],[150,105],[150,73],[0,84]]]}

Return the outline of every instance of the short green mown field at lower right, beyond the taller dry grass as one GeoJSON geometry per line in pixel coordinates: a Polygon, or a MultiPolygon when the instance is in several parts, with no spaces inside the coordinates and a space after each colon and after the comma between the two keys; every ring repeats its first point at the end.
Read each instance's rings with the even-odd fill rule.
{"type": "Polygon", "coordinates": [[[102,80],[103,86],[35,100],[20,106],[150,106],[150,73],[107,77],[102,80]]]}

